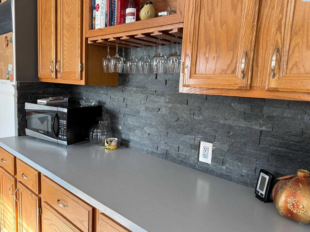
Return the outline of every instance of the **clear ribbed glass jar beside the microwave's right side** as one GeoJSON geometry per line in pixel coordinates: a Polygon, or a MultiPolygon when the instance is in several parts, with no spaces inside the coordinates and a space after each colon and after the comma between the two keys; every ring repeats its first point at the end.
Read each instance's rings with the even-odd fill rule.
{"type": "Polygon", "coordinates": [[[95,146],[104,146],[105,139],[112,137],[112,130],[108,122],[99,121],[89,132],[89,142],[95,146]]]}

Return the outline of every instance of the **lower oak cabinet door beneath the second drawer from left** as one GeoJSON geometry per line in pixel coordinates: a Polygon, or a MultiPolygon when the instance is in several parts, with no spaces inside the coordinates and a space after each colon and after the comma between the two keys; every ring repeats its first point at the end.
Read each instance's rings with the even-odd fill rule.
{"type": "Polygon", "coordinates": [[[41,232],[41,199],[17,181],[18,232],[41,232]]]}

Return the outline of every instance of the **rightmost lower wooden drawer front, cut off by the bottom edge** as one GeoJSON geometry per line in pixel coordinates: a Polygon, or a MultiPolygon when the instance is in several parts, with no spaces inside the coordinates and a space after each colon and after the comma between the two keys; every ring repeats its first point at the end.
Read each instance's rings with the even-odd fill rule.
{"type": "Polygon", "coordinates": [[[127,228],[98,210],[97,232],[130,232],[127,228]]]}

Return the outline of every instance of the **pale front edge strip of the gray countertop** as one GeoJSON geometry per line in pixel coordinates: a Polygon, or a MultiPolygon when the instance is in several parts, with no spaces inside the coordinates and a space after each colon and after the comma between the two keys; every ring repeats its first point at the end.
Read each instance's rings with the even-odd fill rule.
{"type": "Polygon", "coordinates": [[[73,194],[75,194],[76,196],[81,198],[86,203],[91,204],[93,207],[97,208],[98,210],[100,210],[104,214],[106,214],[109,217],[111,217],[112,219],[116,220],[117,222],[122,224],[127,229],[129,229],[129,230],[131,230],[133,232],[135,232],[135,231],[147,232],[146,230],[144,230],[140,226],[136,225],[132,221],[128,220],[127,218],[123,217],[122,215],[118,214],[117,212],[111,210],[106,205],[104,205],[102,203],[99,203],[98,201],[94,200],[92,197],[90,197],[86,193],[82,192],[78,188],[76,188],[76,187],[70,185],[69,183],[65,182],[64,180],[62,180],[57,175],[49,172],[48,170],[46,170],[45,168],[41,167],[40,165],[38,165],[37,163],[33,162],[32,160],[29,160],[27,157],[25,157],[22,154],[16,152],[15,150],[10,148],[9,146],[3,144],[2,142],[0,142],[0,146],[3,149],[5,149],[8,152],[10,152],[12,155],[16,156],[16,158],[24,161],[25,163],[29,164],[31,167],[35,168],[36,170],[38,170],[42,174],[46,175],[48,178],[50,178],[51,180],[55,181],[57,184],[61,185],[63,188],[66,188],[67,190],[69,190],[70,192],[72,192],[73,194]]]}

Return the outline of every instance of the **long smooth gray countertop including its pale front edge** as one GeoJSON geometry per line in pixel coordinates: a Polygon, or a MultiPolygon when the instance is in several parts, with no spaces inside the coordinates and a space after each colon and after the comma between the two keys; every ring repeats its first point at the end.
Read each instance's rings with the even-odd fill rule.
{"type": "Polygon", "coordinates": [[[0,146],[132,231],[309,232],[254,189],[135,151],[29,136],[0,146]]]}

